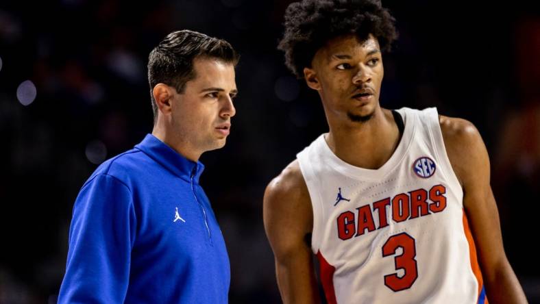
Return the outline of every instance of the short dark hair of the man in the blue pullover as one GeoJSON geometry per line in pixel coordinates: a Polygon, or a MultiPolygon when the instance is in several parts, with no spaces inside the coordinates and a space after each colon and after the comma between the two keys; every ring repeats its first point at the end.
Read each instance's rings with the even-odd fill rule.
{"type": "Polygon", "coordinates": [[[154,123],[158,117],[154,86],[162,83],[174,87],[178,93],[184,92],[186,82],[197,77],[193,70],[193,60],[197,57],[216,58],[234,66],[239,58],[229,42],[188,29],[173,31],[150,52],[148,83],[154,123]]]}

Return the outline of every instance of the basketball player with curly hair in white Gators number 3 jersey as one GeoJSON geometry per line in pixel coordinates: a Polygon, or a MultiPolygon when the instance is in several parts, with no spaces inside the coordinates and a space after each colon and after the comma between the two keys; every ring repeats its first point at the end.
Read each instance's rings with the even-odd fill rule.
{"type": "Polygon", "coordinates": [[[379,95],[393,17],[377,0],[289,5],[280,49],[330,131],[265,192],[284,303],[526,303],[502,246],[478,130],[379,95]]]}

